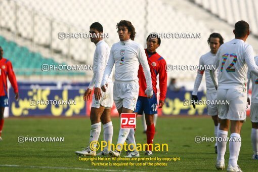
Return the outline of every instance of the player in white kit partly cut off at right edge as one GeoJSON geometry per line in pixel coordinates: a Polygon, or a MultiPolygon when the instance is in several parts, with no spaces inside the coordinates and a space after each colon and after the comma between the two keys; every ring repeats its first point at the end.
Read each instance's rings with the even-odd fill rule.
{"type": "MultiPolygon", "coordinates": [[[[254,57],[256,65],[258,65],[258,56],[254,57]]],[[[258,159],[258,75],[255,75],[248,71],[247,74],[248,84],[247,88],[249,89],[250,79],[252,80],[252,99],[251,99],[251,142],[253,150],[253,159],[258,159]]],[[[247,92],[248,93],[248,92],[247,92]]]]}

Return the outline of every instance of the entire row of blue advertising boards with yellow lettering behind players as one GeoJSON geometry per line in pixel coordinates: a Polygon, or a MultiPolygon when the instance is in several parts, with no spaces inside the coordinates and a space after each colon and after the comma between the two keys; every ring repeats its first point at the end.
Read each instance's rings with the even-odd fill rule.
{"type": "MultiPolygon", "coordinates": [[[[20,100],[15,101],[13,89],[9,90],[9,116],[46,116],[46,117],[70,117],[70,116],[90,116],[92,101],[83,101],[84,89],[19,89],[20,100]],[[75,101],[75,105],[44,105],[31,106],[30,100],[70,100],[75,101]]],[[[94,93],[94,92],[92,92],[94,93]]],[[[199,100],[206,100],[205,93],[198,93],[199,100]]],[[[158,109],[159,116],[203,116],[207,114],[206,105],[185,106],[184,100],[191,99],[191,92],[174,92],[167,90],[165,104],[162,109],[158,109]]],[[[112,116],[118,116],[115,105],[111,109],[112,116]]],[[[249,115],[249,108],[247,110],[249,115]]]]}

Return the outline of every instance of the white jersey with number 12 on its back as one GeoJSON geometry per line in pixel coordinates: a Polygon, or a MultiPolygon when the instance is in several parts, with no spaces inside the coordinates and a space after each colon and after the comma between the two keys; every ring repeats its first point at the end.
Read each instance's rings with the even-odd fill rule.
{"type": "Polygon", "coordinates": [[[258,74],[252,46],[242,39],[232,39],[219,48],[213,62],[219,70],[218,89],[236,89],[247,92],[247,66],[258,74]]]}

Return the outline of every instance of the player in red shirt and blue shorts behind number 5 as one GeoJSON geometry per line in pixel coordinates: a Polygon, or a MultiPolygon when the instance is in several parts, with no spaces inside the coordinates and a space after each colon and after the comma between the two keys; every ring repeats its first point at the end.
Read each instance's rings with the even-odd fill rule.
{"type": "MultiPolygon", "coordinates": [[[[143,114],[145,113],[145,119],[147,124],[147,144],[153,143],[153,138],[155,134],[155,126],[153,123],[154,114],[157,113],[157,108],[162,108],[164,105],[164,100],[166,97],[167,90],[167,73],[165,70],[166,61],[156,53],[156,49],[160,46],[161,39],[156,34],[150,34],[147,39],[147,49],[145,49],[145,53],[148,59],[148,63],[151,71],[151,79],[152,79],[152,89],[153,89],[153,97],[148,99],[146,94],[144,93],[146,90],[146,80],[143,72],[142,65],[140,65],[138,70],[138,78],[139,78],[139,97],[136,104],[136,110],[134,113],[143,114]],[[159,78],[159,90],[160,90],[160,98],[159,104],[157,106],[157,75],[159,78]]],[[[130,139],[129,139],[130,140],[130,139]]],[[[152,155],[152,147],[148,146],[145,151],[145,155],[152,155]]]]}

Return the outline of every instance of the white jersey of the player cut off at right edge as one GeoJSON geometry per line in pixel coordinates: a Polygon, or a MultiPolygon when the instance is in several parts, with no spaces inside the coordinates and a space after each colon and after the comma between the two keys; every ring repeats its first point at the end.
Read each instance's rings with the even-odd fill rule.
{"type": "MultiPolygon", "coordinates": [[[[258,56],[254,57],[256,65],[258,65],[258,56]]],[[[251,73],[248,70],[248,79],[252,80],[252,100],[253,103],[258,103],[258,75],[251,73]]]]}

